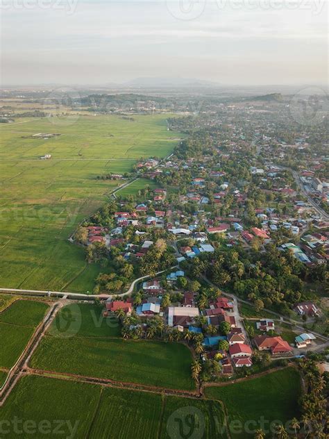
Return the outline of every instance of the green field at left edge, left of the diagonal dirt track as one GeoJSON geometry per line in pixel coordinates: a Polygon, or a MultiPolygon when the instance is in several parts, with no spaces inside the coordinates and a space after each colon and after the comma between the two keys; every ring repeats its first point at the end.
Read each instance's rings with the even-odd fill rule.
{"type": "Polygon", "coordinates": [[[47,308],[42,302],[19,300],[0,314],[0,367],[15,364],[47,308]]]}

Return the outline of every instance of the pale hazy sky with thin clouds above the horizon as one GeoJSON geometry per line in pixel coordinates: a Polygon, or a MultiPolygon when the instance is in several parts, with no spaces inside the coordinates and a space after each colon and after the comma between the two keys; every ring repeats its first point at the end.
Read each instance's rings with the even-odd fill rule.
{"type": "Polygon", "coordinates": [[[327,81],[326,0],[47,1],[2,0],[3,85],[327,81]]]}

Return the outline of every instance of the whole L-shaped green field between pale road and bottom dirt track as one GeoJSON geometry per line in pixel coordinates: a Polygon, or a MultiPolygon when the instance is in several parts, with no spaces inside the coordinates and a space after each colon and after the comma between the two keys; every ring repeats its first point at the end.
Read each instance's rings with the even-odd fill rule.
{"type": "Polygon", "coordinates": [[[31,367],[162,388],[195,389],[187,346],[124,340],[119,324],[102,317],[101,311],[99,306],[88,304],[62,308],[33,354],[31,367]]]}

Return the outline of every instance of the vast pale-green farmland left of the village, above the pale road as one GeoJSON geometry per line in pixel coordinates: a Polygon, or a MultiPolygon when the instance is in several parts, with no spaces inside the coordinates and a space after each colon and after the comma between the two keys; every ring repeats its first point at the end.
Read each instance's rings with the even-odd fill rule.
{"type": "Polygon", "coordinates": [[[119,184],[96,177],[129,172],[141,156],[166,156],[177,134],[167,131],[164,115],[21,122],[0,127],[0,285],[92,290],[100,269],[88,267],[67,238],[119,184]],[[49,132],[61,135],[31,138],[49,132]],[[39,160],[44,154],[52,159],[39,160]]]}

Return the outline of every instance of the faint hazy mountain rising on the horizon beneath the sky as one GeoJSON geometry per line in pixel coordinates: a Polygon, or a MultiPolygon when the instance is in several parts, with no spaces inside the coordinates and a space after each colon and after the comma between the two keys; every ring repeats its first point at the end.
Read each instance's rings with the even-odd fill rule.
{"type": "Polygon", "coordinates": [[[135,78],[123,83],[126,87],[168,88],[168,87],[218,87],[219,84],[194,78],[135,78]]]}

